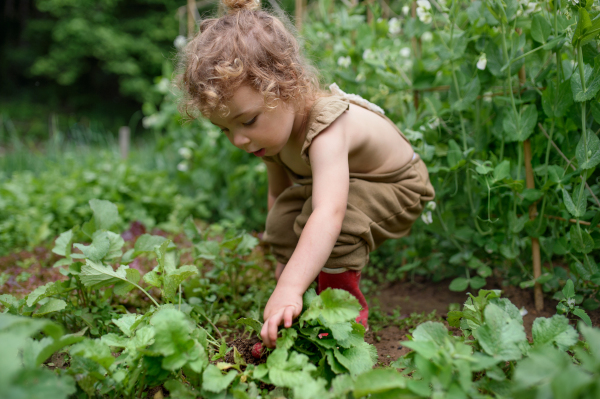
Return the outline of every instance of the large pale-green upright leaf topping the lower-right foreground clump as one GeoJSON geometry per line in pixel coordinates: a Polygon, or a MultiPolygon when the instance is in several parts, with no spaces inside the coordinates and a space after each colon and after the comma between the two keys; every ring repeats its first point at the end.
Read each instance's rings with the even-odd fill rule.
{"type": "Polygon", "coordinates": [[[520,359],[520,345],[527,342],[523,325],[493,303],[485,307],[484,318],[485,323],[473,331],[483,350],[498,360],[520,359]]]}

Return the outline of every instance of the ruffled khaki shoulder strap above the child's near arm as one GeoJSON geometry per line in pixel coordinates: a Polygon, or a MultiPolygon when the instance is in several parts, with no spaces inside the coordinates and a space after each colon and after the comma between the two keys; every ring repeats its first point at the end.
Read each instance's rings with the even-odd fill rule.
{"type": "Polygon", "coordinates": [[[321,97],[315,101],[308,115],[306,138],[300,151],[300,156],[307,165],[310,165],[308,148],[312,144],[313,139],[331,125],[349,107],[348,100],[336,95],[321,97]]]}

